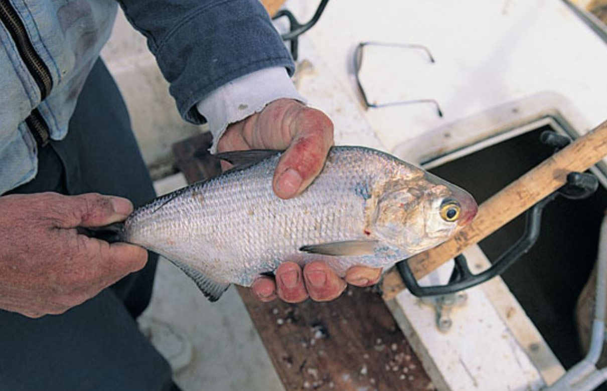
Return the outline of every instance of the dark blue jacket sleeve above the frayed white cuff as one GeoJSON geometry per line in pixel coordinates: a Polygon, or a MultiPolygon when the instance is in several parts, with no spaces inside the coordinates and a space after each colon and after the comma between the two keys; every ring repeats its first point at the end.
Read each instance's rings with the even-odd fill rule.
{"type": "Polygon", "coordinates": [[[273,66],[294,72],[291,55],[259,0],[118,0],[148,39],[177,109],[205,119],[195,105],[240,76],[273,66]]]}

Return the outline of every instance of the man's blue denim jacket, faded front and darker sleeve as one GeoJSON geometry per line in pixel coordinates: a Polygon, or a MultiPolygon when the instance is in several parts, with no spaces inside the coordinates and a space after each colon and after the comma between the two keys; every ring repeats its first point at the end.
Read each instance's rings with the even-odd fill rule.
{"type": "MultiPolygon", "coordinates": [[[[203,122],[195,104],[232,79],[277,65],[293,72],[291,56],[257,0],[118,2],[131,24],[148,38],[187,121],[203,122]]],[[[46,124],[50,139],[65,137],[78,93],[109,38],[117,2],[0,0],[0,5],[1,195],[36,175],[34,113],[46,124]],[[7,7],[50,76],[46,96],[24,55],[23,39],[15,35],[10,22],[14,18],[7,21],[7,7]]]]}

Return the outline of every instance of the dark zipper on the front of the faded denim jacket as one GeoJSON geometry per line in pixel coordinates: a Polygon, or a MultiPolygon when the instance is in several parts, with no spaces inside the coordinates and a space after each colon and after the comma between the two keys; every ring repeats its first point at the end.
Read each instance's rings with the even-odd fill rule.
{"type": "MultiPolygon", "coordinates": [[[[21,18],[8,0],[0,0],[0,21],[13,38],[21,59],[32,74],[36,84],[38,84],[41,101],[44,100],[49,96],[53,87],[53,79],[46,64],[36,53],[21,18]]],[[[32,132],[38,145],[44,147],[49,141],[49,125],[44,121],[38,109],[32,110],[30,115],[25,118],[25,123],[30,128],[30,132],[32,132]]]]}

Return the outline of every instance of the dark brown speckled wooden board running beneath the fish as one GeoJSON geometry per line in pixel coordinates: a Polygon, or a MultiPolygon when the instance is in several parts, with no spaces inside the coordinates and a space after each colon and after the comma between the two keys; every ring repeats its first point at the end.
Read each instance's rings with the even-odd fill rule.
{"type": "MultiPolygon", "coordinates": [[[[173,145],[189,183],[219,173],[206,150],[208,133],[173,145]]],[[[246,309],[285,389],[392,391],[434,386],[381,296],[349,287],[318,303],[263,303],[239,287],[246,309]]],[[[221,304],[218,304],[221,305],[221,304]]]]}

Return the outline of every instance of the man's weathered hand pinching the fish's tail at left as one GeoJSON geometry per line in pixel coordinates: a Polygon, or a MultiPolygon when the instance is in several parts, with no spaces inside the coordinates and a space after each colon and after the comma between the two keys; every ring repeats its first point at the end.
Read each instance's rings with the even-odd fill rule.
{"type": "Polygon", "coordinates": [[[141,269],[148,256],[141,247],[75,229],[121,221],[132,209],[127,199],[93,193],[0,197],[0,309],[30,318],[63,313],[141,269]]]}

